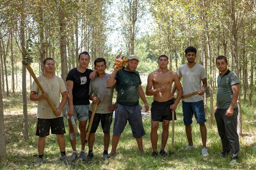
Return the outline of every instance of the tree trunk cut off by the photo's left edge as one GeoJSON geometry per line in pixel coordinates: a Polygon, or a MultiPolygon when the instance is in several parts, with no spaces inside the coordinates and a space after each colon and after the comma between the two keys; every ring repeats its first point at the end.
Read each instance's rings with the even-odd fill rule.
{"type": "MultiPolygon", "coordinates": [[[[2,64],[1,64],[2,65],[2,64]]],[[[0,84],[1,74],[0,74],[0,84]]],[[[4,103],[2,96],[2,88],[0,88],[0,161],[6,159],[6,145],[5,145],[5,137],[4,137],[4,103]]]]}

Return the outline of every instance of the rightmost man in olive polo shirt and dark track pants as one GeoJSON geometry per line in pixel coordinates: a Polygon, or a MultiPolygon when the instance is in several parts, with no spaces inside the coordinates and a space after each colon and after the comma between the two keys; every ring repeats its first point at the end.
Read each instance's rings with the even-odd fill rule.
{"type": "Polygon", "coordinates": [[[239,78],[227,69],[227,57],[216,58],[216,66],[220,71],[218,76],[218,93],[216,106],[213,109],[218,132],[222,143],[220,156],[227,157],[231,153],[230,163],[238,161],[239,138],[236,132],[239,95],[239,78]]]}

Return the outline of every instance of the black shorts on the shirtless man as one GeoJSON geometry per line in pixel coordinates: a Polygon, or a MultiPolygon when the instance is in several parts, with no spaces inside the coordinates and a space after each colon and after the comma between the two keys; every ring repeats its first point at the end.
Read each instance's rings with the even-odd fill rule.
{"type": "MultiPolygon", "coordinates": [[[[174,104],[173,99],[167,102],[153,101],[151,104],[151,121],[163,121],[172,120],[172,111],[170,106],[174,104]]],[[[174,119],[176,120],[176,113],[174,113],[174,119]]]]}

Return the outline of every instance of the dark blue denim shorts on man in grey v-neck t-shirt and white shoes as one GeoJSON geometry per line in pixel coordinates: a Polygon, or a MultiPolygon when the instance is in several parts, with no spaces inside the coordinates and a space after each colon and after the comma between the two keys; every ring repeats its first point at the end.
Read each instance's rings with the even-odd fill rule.
{"type": "Polygon", "coordinates": [[[204,113],[204,102],[200,100],[199,102],[184,102],[182,101],[183,110],[183,122],[185,126],[192,124],[192,117],[195,115],[197,123],[206,122],[204,113]]]}

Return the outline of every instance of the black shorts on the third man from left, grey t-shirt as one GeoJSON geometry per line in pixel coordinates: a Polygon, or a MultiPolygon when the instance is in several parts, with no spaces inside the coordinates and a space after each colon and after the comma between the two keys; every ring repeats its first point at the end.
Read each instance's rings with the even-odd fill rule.
{"type": "MultiPolygon", "coordinates": [[[[89,110],[89,122],[92,117],[92,111],[89,110]]],[[[101,121],[101,128],[103,130],[103,133],[108,133],[110,132],[110,126],[112,123],[112,117],[113,117],[113,112],[112,113],[95,113],[93,121],[92,121],[92,127],[90,130],[90,133],[95,133],[97,131],[97,128],[99,126],[99,122],[101,121]]],[[[88,124],[89,126],[89,124],[88,124]]],[[[88,131],[88,128],[86,132],[88,131]]]]}

